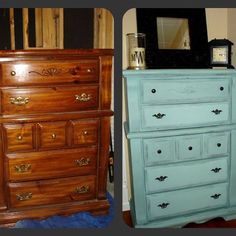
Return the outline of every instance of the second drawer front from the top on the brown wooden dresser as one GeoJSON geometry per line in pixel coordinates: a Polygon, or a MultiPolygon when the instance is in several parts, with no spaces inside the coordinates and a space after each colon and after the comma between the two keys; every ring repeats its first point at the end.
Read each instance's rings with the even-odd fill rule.
{"type": "Polygon", "coordinates": [[[2,113],[80,111],[98,108],[98,86],[5,89],[2,113]]]}

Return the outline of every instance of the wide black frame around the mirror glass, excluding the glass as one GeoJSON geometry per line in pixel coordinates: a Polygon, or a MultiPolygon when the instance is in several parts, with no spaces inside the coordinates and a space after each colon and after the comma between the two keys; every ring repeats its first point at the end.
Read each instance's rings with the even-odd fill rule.
{"type": "Polygon", "coordinates": [[[205,8],[137,8],[137,31],[146,34],[148,69],[209,68],[205,8]],[[190,50],[159,49],[157,17],[187,18],[190,50]]]}

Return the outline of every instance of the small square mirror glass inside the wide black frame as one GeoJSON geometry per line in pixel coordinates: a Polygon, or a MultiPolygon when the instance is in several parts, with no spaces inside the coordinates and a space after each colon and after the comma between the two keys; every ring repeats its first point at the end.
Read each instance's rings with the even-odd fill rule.
{"type": "Polygon", "coordinates": [[[159,49],[190,49],[189,25],[186,18],[157,17],[159,49]]]}

